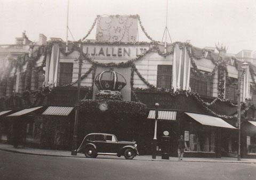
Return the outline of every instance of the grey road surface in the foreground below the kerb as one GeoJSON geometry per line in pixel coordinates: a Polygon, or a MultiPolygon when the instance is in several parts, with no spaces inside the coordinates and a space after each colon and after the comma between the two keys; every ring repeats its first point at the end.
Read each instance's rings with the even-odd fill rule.
{"type": "Polygon", "coordinates": [[[0,179],[256,179],[253,163],[63,158],[0,151],[0,179]]]}

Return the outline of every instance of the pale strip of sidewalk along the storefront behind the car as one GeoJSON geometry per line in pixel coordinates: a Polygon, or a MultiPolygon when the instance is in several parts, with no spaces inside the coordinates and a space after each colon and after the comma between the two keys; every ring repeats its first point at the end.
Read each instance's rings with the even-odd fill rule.
{"type": "MultiPolygon", "coordinates": [[[[84,154],[77,153],[77,156],[71,156],[70,151],[63,150],[45,150],[45,149],[34,149],[34,148],[13,148],[10,144],[0,144],[0,150],[13,152],[13,153],[23,153],[23,154],[34,154],[38,156],[54,156],[54,157],[72,157],[72,158],[84,158],[84,154]]],[[[116,156],[98,156],[98,158],[115,158],[124,159],[124,157],[116,156]]],[[[157,156],[156,159],[152,159],[150,155],[136,156],[134,160],[144,160],[144,161],[178,161],[176,157],[170,157],[169,160],[161,159],[161,156],[157,156]]],[[[186,162],[229,162],[229,163],[256,163],[256,159],[241,159],[237,161],[237,158],[222,157],[222,158],[184,158],[183,161],[186,162]]]]}

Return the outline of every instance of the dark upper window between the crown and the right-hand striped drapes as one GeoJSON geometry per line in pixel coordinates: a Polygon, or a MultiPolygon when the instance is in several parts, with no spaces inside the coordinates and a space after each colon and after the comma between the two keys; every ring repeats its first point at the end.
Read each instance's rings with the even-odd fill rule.
{"type": "Polygon", "coordinates": [[[156,86],[170,89],[172,85],[172,66],[157,65],[157,81],[156,86]]]}

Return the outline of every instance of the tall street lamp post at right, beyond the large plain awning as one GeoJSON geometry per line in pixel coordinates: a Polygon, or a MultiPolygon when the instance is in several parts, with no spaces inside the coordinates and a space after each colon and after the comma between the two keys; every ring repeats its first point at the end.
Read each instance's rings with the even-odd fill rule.
{"type": "Polygon", "coordinates": [[[238,141],[237,141],[237,161],[241,160],[241,80],[244,76],[245,70],[249,67],[249,63],[244,62],[238,68],[238,82],[237,82],[237,124],[238,124],[238,141]]]}

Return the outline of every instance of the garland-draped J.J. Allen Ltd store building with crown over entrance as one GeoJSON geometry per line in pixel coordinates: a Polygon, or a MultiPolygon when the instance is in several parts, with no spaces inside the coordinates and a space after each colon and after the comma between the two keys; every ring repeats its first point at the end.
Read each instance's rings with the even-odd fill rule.
{"type": "MultiPolygon", "coordinates": [[[[5,134],[15,128],[10,126],[15,118],[26,119],[25,134],[30,132],[29,137],[39,147],[71,148],[77,60],[82,56],[78,142],[91,132],[113,133],[122,140],[137,141],[142,154],[151,153],[155,103],[159,103],[158,152],[167,131],[171,156],[177,154],[180,135],[185,136],[185,156],[236,156],[238,69],[245,59],[188,42],[165,46],[147,34],[138,15],[98,16],[94,26],[95,40],[86,40],[91,29],[81,39],[82,46],[69,42],[68,52],[65,42],[51,38],[47,44],[42,40],[37,48],[29,46],[30,50],[22,54],[27,57],[23,61],[20,56],[18,60],[5,58],[15,62],[1,76],[0,116],[5,134]],[[151,42],[137,41],[139,27],[151,42]]],[[[244,70],[239,87],[241,154],[255,157],[256,69],[247,62],[250,66],[244,70]]]]}

